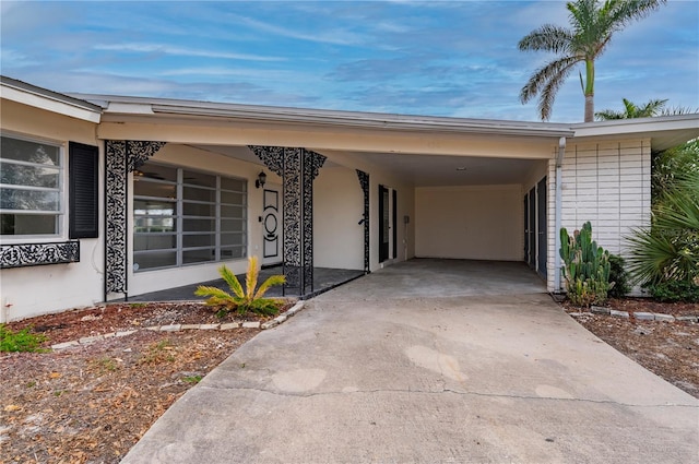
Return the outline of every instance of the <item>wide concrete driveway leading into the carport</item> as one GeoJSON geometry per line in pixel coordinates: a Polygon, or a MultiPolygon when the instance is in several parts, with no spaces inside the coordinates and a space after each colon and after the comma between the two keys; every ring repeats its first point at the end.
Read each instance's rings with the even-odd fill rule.
{"type": "Polygon", "coordinates": [[[310,300],[123,462],[697,462],[699,401],[578,325],[524,266],[464,266],[416,260],[310,300]],[[478,283],[489,272],[511,286],[478,283]]]}

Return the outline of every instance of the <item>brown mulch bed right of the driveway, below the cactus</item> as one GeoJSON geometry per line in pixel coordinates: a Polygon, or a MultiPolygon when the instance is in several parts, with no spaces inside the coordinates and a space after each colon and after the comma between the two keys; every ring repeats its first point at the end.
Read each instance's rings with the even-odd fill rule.
{"type": "MultiPolygon", "coordinates": [[[[590,332],[645,369],[699,398],[699,323],[647,321],[635,312],[699,316],[699,304],[663,304],[647,298],[612,299],[609,309],[629,312],[629,319],[589,314],[576,320],[590,332]]],[[[564,304],[569,312],[584,311],[564,304]]]]}

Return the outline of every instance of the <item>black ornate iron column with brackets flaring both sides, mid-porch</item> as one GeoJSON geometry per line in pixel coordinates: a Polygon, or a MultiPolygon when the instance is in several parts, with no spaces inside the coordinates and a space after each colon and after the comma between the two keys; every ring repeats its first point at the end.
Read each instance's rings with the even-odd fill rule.
{"type": "Polygon", "coordinates": [[[313,292],[313,179],[325,157],[303,147],[249,148],[282,177],[284,202],[284,275],[286,287],[313,292]]]}

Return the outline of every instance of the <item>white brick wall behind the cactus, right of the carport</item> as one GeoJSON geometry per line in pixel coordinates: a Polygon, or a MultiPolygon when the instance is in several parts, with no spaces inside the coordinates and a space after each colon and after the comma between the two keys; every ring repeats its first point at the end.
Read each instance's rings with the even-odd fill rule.
{"type": "MultiPolygon", "coordinates": [[[[554,179],[555,162],[549,163],[554,179]]],[[[576,230],[592,224],[593,238],[611,253],[624,255],[625,237],[650,223],[651,146],[650,140],[570,143],[561,169],[561,227],[576,230]]],[[[554,263],[558,250],[553,224],[555,185],[549,189],[548,259],[554,263]]],[[[554,266],[548,269],[548,289],[554,288],[554,266]]]]}

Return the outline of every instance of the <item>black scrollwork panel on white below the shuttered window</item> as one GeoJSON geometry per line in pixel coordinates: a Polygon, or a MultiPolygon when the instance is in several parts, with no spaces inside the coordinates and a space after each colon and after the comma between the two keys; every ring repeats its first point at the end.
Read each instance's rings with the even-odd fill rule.
{"type": "Polygon", "coordinates": [[[80,241],[0,246],[0,269],[80,262],[80,241]]]}

